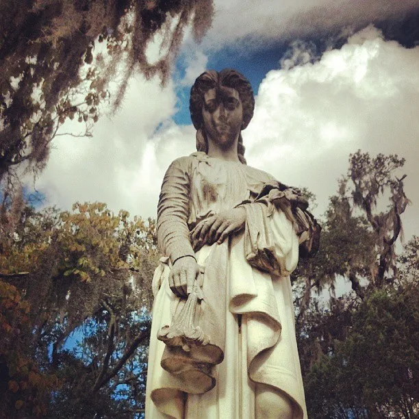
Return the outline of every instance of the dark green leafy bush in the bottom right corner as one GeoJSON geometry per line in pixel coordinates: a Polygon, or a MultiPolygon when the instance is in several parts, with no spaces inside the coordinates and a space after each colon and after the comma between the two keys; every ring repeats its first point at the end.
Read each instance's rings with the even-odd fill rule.
{"type": "Polygon", "coordinates": [[[419,409],[419,287],[377,290],[345,340],[305,377],[311,418],[415,418],[419,409]]]}

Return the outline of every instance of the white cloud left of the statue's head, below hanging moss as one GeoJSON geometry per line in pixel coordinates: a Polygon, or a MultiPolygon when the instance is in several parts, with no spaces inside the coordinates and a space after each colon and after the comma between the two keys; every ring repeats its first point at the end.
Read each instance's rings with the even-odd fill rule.
{"type": "MultiPolygon", "coordinates": [[[[136,77],[118,114],[99,119],[92,138],[62,136],[54,140],[47,168],[36,187],[47,204],[68,209],[75,201],[102,201],[114,211],[155,216],[164,168],[153,161],[157,127],[173,116],[173,83],[136,77]],[[147,170],[149,168],[149,170],[147,170]]],[[[64,126],[77,132],[77,126],[64,126]]],[[[167,129],[164,129],[164,131],[167,129]]]]}

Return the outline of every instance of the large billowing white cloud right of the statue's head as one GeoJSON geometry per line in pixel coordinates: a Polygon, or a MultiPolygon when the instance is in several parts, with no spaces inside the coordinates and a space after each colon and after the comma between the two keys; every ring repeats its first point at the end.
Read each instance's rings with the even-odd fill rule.
{"type": "Polygon", "coordinates": [[[419,47],[368,27],[314,64],[270,71],[244,131],[246,157],[284,183],[307,186],[325,210],[357,149],[407,159],[407,237],[418,233],[419,47]]]}

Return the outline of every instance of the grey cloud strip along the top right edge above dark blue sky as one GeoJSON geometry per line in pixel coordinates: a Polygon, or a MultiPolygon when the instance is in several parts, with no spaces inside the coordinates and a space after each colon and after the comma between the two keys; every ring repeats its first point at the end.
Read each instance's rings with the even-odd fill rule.
{"type": "Polygon", "coordinates": [[[212,29],[204,44],[215,49],[226,44],[249,49],[269,40],[399,18],[418,7],[417,0],[216,0],[212,29]]]}

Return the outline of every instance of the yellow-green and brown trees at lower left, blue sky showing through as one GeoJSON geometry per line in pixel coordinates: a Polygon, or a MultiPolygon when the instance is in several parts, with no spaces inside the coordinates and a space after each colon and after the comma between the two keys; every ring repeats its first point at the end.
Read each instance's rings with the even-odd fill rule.
{"type": "Polygon", "coordinates": [[[0,357],[3,382],[11,384],[0,403],[7,417],[25,409],[131,418],[144,409],[155,222],[76,203],[72,212],[25,208],[13,228],[1,227],[0,324],[8,330],[0,357]],[[16,375],[21,364],[31,379],[16,375]],[[26,381],[30,392],[21,392],[26,381]]]}

